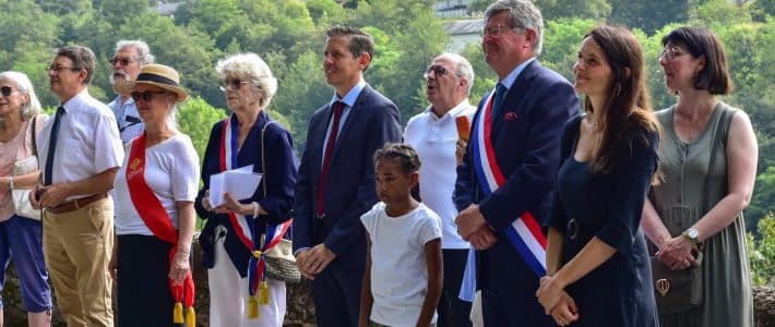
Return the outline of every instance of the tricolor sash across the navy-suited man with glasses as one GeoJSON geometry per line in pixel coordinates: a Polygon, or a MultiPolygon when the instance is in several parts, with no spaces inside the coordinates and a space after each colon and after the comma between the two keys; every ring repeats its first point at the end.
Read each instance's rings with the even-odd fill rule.
{"type": "MultiPolygon", "coordinates": [[[[472,132],[474,171],[485,196],[490,196],[506,182],[496,160],[496,152],[490,140],[494,95],[496,92],[491,92],[484,107],[477,110],[478,117],[472,132]]],[[[527,266],[537,276],[544,276],[546,275],[546,237],[541,233],[540,225],[529,211],[515,213],[515,215],[520,216],[506,227],[505,234],[527,266]]]]}

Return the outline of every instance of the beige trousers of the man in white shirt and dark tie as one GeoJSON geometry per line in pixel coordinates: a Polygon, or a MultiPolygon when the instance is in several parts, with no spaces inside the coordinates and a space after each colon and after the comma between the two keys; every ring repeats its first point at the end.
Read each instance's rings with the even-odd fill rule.
{"type": "Polygon", "coordinates": [[[63,214],[44,210],[43,251],[69,327],[114,326],[108,263],[114,247],[110,197],[63,214]]]}

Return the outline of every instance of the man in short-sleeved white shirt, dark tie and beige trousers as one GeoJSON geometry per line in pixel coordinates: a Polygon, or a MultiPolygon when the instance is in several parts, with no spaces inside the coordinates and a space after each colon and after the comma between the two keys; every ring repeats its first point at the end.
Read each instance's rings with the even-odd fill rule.
{"type": "Polygon", "coordinates": [[[108,275],[114,205],[107,193],[123,148],[112,112],[88,94],[94,71],[91,49],[57,50],[48,76],[60,106],[40,132],[43,184],[31,195],[32,204],[44,208],[45,259],[68,326],[114,326],[108,275]]]}

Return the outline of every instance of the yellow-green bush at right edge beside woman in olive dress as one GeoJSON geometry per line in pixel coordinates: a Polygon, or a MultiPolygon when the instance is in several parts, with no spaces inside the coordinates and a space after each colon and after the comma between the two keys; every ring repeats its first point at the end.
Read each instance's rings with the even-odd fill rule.
{"type": "Polygon", "coordinates": [[[755,286],[775,286],[775,213],[759,221],[761,239],[748,234],[748,257],[751,264],[751,281],[755,286]]]}

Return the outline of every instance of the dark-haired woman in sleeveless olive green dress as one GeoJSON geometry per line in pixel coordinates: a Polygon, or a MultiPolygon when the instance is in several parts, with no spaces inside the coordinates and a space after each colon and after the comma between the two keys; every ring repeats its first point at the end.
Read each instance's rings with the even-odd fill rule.
{"type": "Polygon", "coordinates": [[[659,63],[678,102],[656,113],[664,126],[665,181],[653,187],[642,226],[658,247],[661,263],[675,270],[702,266],[704,302],[693,311],[660,314],[660,325],[752,327],[742,219],[756,173],[751,121],[746,112],[716,98],[730,93],[732,84],[715,35],[702,27],[680,27],[661,43],[659,63]],[[720,119],[725,111],[726,123],[720,119]],[[717,150],[712,152],[712,146],[717,150]],[[708,171],[712,153],[715,158],[708,171]],[[704,258],[699,263],[691,252],[700,244],[704,258]]]}

